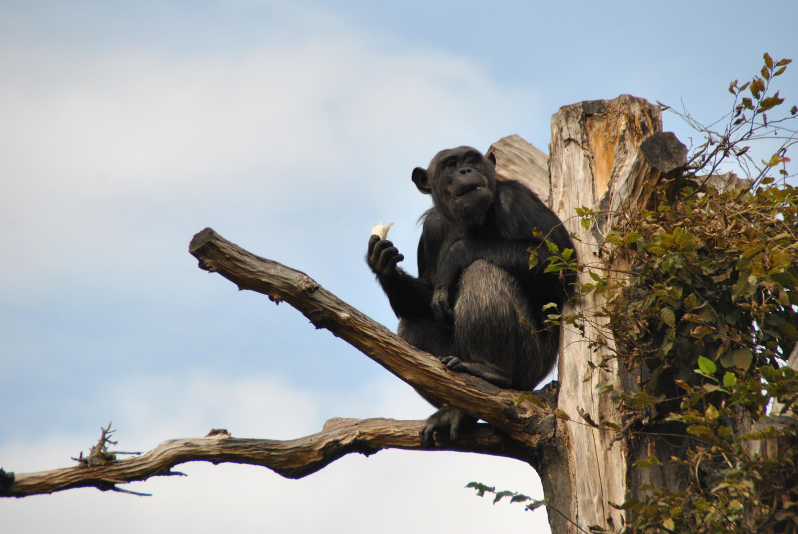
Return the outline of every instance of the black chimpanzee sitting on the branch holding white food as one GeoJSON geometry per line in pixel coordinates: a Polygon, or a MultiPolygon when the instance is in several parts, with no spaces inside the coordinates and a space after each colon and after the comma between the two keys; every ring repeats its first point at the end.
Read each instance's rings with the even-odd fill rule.
{"type": "MultiPolygon", "coordinates": [[[[526,186],[496,179],[496,159],[472,147],[440,151],[429,169],[413,169],[413,183],[433,195],[421,216],[418,277],[397,267],[405,257],[391,241],[373,235],[366,261],[401,319],[399,336],[436,356],[452,371],[499,387],[531,390],[551,371],[559,352],[559,328],[546,324],[543,305],[557,307],[574,275],[543,273],[551,255],[574,245],[559,218],[526,186]],[[530,250],[539,261],[530,269],[530,250]]],[[[440,408],[421,430],[453,440],[476,418],[437,399],[440,408]]]]}

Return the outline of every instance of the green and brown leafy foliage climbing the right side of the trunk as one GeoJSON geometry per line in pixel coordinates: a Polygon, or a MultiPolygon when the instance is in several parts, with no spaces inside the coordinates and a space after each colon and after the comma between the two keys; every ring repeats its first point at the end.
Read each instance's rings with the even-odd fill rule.
{"type": "Polygon", "coordinates": [[[604,393],[624,406],[626,428],[657,439],[666,423],[686,438],[681,454],[638,461],[689,478],[623,503],[626,532],[798,531],[798,373],[787,364],[798,340],[798,190],[786,155],[798,109],[768,119],[784,103],[770,83],[789,62],[765,54],[760,76],[730,84],[720,132],[679,114],[705,143],[677,183],[652,192],[652,209],[607,236],[610,262],[628,265],[622,287],[612,275],[583,287],[620,290],[602,314],[641,391],[604,393]],[[749,150],[769,139],[778,147],[759,163],[749,150]],[[745,181],[719,175],[730,163],[745,181]]]}

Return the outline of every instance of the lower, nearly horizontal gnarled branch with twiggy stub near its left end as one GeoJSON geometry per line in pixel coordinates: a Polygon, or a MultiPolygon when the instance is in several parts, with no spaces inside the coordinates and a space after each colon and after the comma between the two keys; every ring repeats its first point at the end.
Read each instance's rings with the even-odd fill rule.
{"type": "MultiPolygon", "coordinates": [[[[0,497],[27,497],[64,489],[95,487],[127,491],[117,484],[149,477],[179,475],[172,467],[186,461],[234,462],[263,465],[283,477],[301,478],[350,453],[373,454],[383,449],[421,449],[418,431],[424,421],[333,418],[318,434],[290,441],[231,438],[171,439],[154,450],[106,465],[77,465],[40,473],[0,473],[0,497]]],[[[456,443],[442,442],[436,450],[492,454],[523,459],[523,449],[492,426],[480,424],[456,443]]]]}

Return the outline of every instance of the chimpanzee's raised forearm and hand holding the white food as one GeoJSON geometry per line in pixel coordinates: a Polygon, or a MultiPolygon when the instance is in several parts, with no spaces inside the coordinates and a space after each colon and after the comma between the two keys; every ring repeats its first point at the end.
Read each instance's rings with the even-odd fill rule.
{"type": "Polygon", "coordinates": [[[433,318],[432,308],[429,307],[433,299],[432,284],[425,279],[412,277],[397,267],[397,263],[404,260],[405,256],[399,253],[391,241],[381,240],[377,235],[371,236],[365,259],[377,275],[397,317],[433,318]]]}

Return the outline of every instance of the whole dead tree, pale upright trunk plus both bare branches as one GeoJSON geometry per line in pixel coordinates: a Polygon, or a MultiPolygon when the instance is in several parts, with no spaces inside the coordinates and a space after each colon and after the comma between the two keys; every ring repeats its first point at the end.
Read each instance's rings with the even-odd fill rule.
{"type": "MultiPolygon", "coordinates": [[[[535,189],[575,235],[580,261],[603,270],[607,265],[600,247],[614,223],[610,214],[629,213],[645,205],[648,186],[684,159],[678,141],[674,143],[672,134],[668,137],[661,131],[658,106],[624,95],[561,108],[551,120],[548,169],[546,155],[517,135],[501,139],[490,152],[497,159],[497,175],[521,179],[535,189]],[[644,140],[647,144],[642,150],[644,140]],[[588,229],[576,217],[579,207],[599,213],[588,229]]],[[[221,274],[239,289],[288,302],[316,328],[330,330],[418,391],[488,422],[458,442],[440,438],[437,445],[441,450],[514,457],[534,467],[543,481],[551,532],[617,532],[622,528],[624,517],[613,505],[638,497],[643,482],[639,470],[630,467],[660,444],[631,439],[606,424],[618,428],[622,418],[608,396],[599,395],[599,389],[611,385],[618,391],[634,392],[638,388],[634,373],[608,359],[613,340],[602,328],[604,319],[595,313],[609,295],[590,293],[566,309],[566,313],[583,313],[585,320],[563,328],[559,383],[535,395],[523,395],[448,371],[433,356],[409,346],[306,274],[255,256],[213,230],[196,234],[190,251],[201,268],[221,274]]],[[[128,460],[117,460],[106,452],[81,459],[81,465],[69,469],[16,477],[0,470],[0,496],[24,497],[80,486],[124,491],[117,485],[176,474],[172,466],[192,460],[265,465],[286,477],[303,477],[352,452],[420,449],[420,426],[421,422],[390,419],[334,419],[319,434],[291,442],[232,438],[226,431],[217,431],[206,438],[164,442],[128,460]]],[[[650,480],[666,485],[672,478],[666,468],[646,473],[650,480]]]]}

